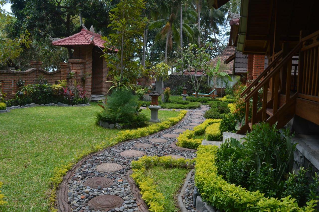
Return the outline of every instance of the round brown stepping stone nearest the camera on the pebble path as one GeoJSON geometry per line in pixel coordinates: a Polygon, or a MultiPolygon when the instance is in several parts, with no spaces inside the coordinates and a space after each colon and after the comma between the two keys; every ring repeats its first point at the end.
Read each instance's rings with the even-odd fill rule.
{"type": "Polygon", "coordinates": [[[109,211],[113,208],[121,207],[124,200],[121,197],[115,195],[104,194],[92,198],[88,204],[93,207],[94,210],[109,211]]]}

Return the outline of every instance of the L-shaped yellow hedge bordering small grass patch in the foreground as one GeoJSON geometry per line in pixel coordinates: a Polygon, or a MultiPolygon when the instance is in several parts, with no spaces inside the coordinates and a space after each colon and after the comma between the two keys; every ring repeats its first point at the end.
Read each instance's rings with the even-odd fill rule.
{"type": "Polygon", "coordinates": [[[157,186],[154,180],[145,175],[145,170],[152,166],[170,166],[178,167],[184,165],[192,165],[193,160],[190,159],[174,159],[172,157],[143,156],[137,161],[132,161],[133,173],[131,177],[141,190],[142,199],[149,206],[150,212],[164,212],[164,196],[156,191],[157,186]]]}

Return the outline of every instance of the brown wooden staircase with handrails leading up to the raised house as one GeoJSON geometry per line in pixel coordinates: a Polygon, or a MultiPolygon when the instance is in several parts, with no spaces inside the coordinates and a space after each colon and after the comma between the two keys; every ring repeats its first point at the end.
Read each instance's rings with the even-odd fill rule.
{"type": "Polygon", "coordinates": [[[297,92],[291,91],[292,61],[301,47],[302,42],[289,52],[289,43],[284,42],[282,50],[269,59],[269,66],[241,93],[246,112],[238,134],[250,131],[260,121],[277,122],[277,128],[282,128],[293,118],[297,92]]]}

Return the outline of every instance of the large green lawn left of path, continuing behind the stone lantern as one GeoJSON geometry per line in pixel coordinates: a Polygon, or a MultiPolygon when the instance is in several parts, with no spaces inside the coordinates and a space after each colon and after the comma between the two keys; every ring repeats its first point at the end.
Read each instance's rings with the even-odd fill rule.
{"type": "MultiPolygon", "coordinates": [[[[119,130],[95,124],[102,108],[30,107],[0,114],[0,181],[8,201],[0,211],[48,211],[46,191],[54,168],[119,130]]],[[[150,110],[142,113],[150,116],[150,110]]],[[[159,111],[162,121],[175,111],[159,111]]]]}

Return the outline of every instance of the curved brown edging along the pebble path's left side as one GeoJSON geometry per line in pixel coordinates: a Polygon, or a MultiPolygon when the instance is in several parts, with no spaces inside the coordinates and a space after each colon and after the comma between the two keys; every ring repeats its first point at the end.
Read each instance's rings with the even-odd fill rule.
{"type": "MultiPolygon", "coordinates": [[[[187,117],[189,116],[189,112],[186,113],[186,115],[184,116],[184,118],[182,118],[181,121],[177,122],[176,124],[174,124],[173,126],[169,127],[169,128],[166,128],[166,129],[163,129],[161,131],[164,131],[164,130],[168,130],[170,128],[173,128],[175,125],[178,125],[180,124],[182,121],[184,121],[187,117]]],[[[154,134],[157,134],[161,131],[158,131],[156,133],[153,133],[151,135],[154,135],[154,134]]],[[[141,138],[146,138],[150,135],[146,135],[144,137],[140,137],[140,138],[136,138],[136,139],[141,139],[141,138]]],[[[120,146],[122,143],[128,143],[128,142],[131,142],[131,141],[134,141],[136,139],[131,139],[131,140],[128,140],[128,141],[123,141],[123,142],[120,142],[120,143],[117,143],[113,146],[110,146],[106,149],[103,149],[101,151],[98,151],[98,152],[95,152],[95,153],[92,153],[86,157],[84,157],[83,159],[81,159],[78,163],[76,163],[63,177],[63,180],[61,182],[61,184],[59,185],[58,187],[58,191],[57,191],[57,195],[56,195],[56,202],[55,202],[55,207],[58,209],[59,212],[71,212],[72,209],[71,209],[71,206],[68,204],[68,189],[69,189],[69,184],[68,184],[68,181],[70,180],[71,178],[71,175],[73,173],[74,170],[76,170],[80,165],[83,164],[84,161],[86,161],[87,159],[89,159],[90,157],[93,157],[95,155],[98,155],[100,153],[102,153],[103,151],[105,150],[109,150],[109,149],[112,149],[116,146],[120,146]]],[[[148,211],[148,210],[147,210],[148,211]]]]}

